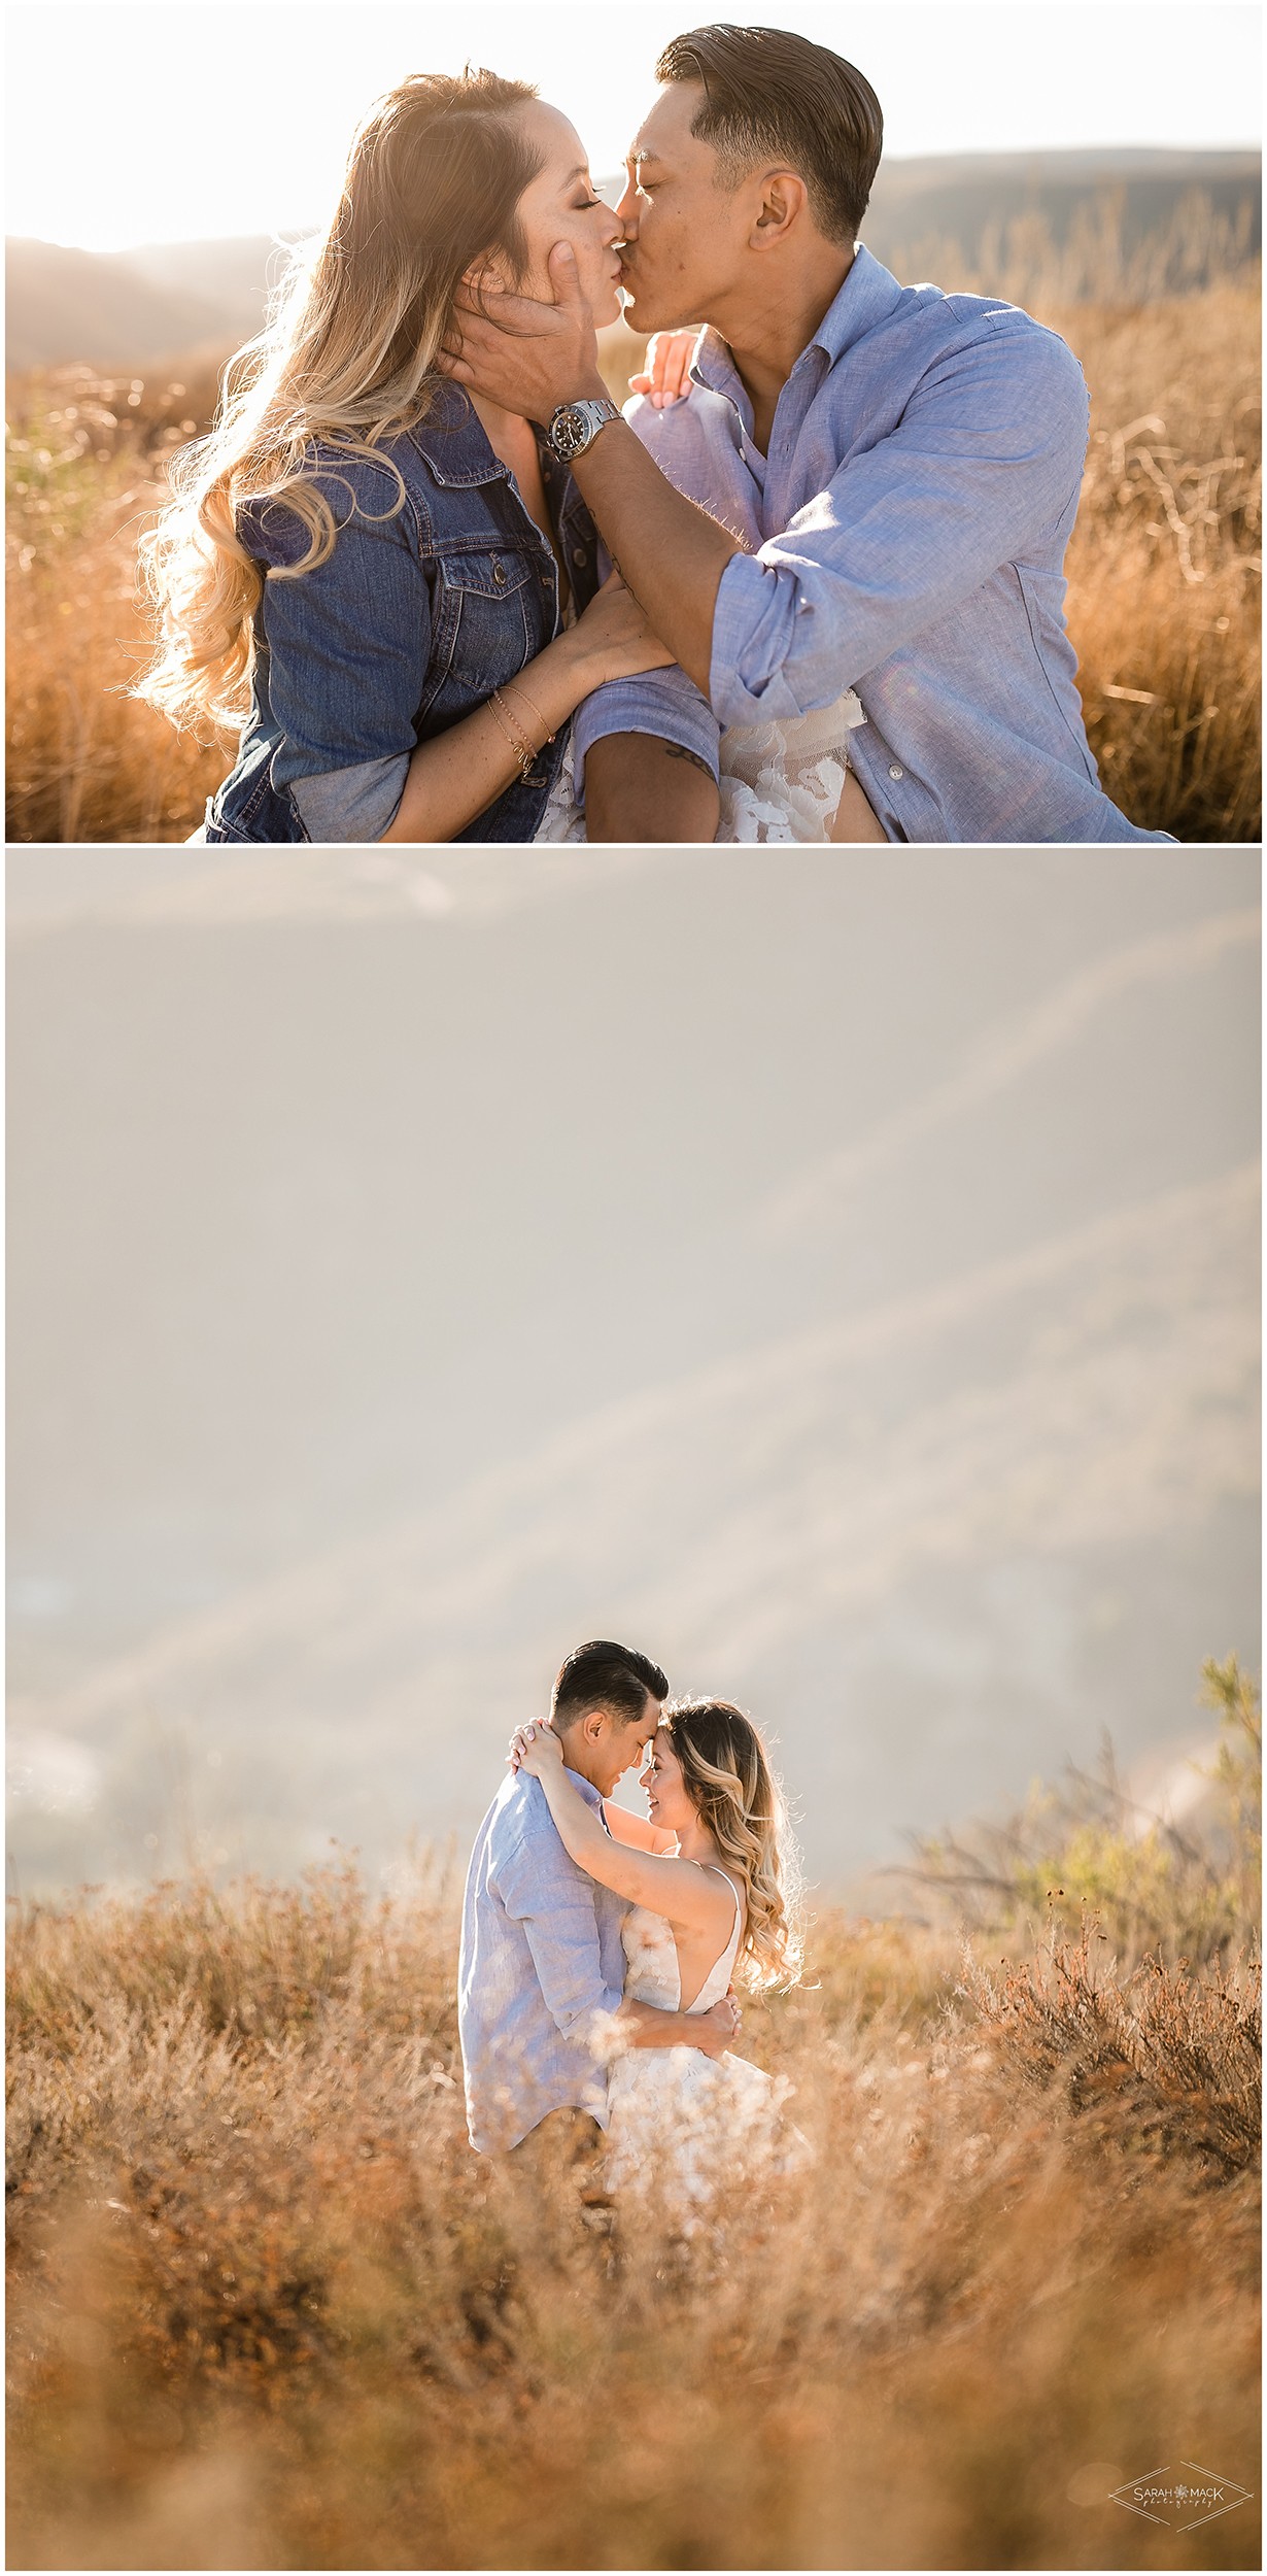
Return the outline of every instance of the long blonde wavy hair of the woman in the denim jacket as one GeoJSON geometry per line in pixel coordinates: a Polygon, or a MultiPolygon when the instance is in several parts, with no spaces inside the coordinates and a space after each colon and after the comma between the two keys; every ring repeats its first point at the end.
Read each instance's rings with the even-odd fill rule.
{"type": "MultiPolygon", "coordinates": [[[[518,201],[543,162],[515,111],[533,98],[497,72],[415,72],[361,124],[324,237],[229,361],[214,428],[170,461],[173,500],[142,544],[157,644],[131,696],[173,724],[232,732],[250,711],[263,580],[239,510],[286,500],[309,531],[304,562],[270,580],[324,564],[337,520],[312,482],[314,443],[366,456],[420,420],[446,381],[435,353],[466,270],[502,252],[523,276],[518,201]]],[[[391,518],[404,482],[379,461],[391,518]]]]}

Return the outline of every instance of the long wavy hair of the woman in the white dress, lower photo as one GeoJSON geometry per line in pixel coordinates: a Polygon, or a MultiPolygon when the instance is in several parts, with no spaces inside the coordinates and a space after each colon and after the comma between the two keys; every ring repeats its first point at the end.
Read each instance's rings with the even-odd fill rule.
{"type": "Polygon", "coordinates": [[[729,1700],[670,1700],[662,1726],[700,1824],[744,1883],[744,1981],[796,1986],[803,1963],[801,1883],[788,1808],[752,1718],[729,1700]]]}

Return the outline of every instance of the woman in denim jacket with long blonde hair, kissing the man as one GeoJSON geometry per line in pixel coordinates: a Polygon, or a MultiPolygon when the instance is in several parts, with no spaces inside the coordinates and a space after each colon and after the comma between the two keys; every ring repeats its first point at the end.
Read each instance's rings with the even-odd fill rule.
{"type": "Polygon", "coordinates": [[[600,587],[567,466],[600,425],[579,415],[615,404],[543,430],[435,363],[461,296],[549,299],[556,242],[613,322],[615,240],[528,82],[417,72],[371,111],[149,541],[136,696],[242,729],[198,837],[533,840],[579,701],[672,662],[618,574],[600,587]]]}

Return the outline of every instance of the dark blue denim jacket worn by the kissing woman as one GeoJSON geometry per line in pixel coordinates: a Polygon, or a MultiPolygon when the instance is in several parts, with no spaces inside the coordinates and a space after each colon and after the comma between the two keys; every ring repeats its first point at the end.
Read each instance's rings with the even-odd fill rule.
{"type": "MultiPolygon", "coordinates": [[[[579,611],[597,590],[595,526],[543,440],[541,471],[579,611]]],[[[312,479],[337,523],[312,572],[286,577],[312,544],[286,502],[237,520],[265,587],[252,711],[206,806],[209,842],[379,840],[412,750],[559,634],[559,564],[461,386],[443,384],[427,417],[379,451],[317,446],[312,479]],[[384,459],[404,479],[402,507],[384,459]]],[[[533,840],[564,742],[567,726],[456,840],[533,840]]]]}

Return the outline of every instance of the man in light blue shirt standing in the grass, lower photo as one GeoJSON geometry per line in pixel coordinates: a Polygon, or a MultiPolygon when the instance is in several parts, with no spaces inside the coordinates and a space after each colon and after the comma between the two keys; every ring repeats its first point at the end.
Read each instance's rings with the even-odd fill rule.
{"type": "MultiPolygon", "coordinates": [[[[641,1762],[667,1680],[631,1646],[597,1638],[567,1656],[551,1700],[574,1788],[603,1806],[641,1762]]],[[[505,2154],[543,2123],[595,2141],[608,2125],[610,2040],[626,2048],[703,2048],[721,2056],[737,2007],[657,2012],[623,2002],[623,1896],[569,1857],[541,1780],[512,1772],[479,1826],[466,1873],[458,2035],[471,2146],[505,2154]],[[618,2030],[613,2032],[613,2017],[618,2030]],[[579,2120],[574,2117],[579,2115],[579,2120]]]]}

